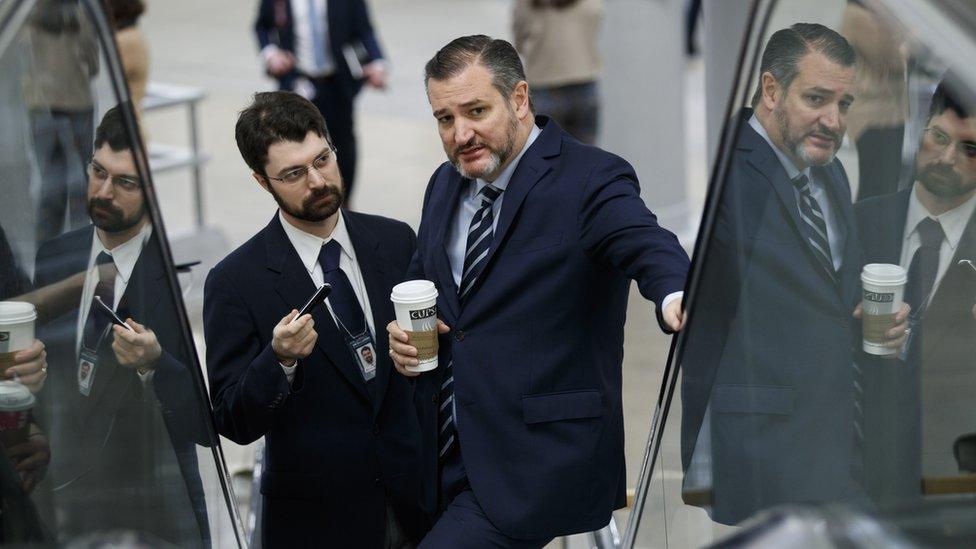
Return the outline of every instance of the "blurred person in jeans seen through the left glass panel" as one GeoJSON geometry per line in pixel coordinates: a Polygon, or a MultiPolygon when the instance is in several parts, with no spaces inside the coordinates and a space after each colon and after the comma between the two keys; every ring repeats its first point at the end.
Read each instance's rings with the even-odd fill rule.
{"type": "Polygon", "coordinates": [[[91,81],[99,70],[95,30],[78,2],[40,0],[27,34],[24,82],[40,171],[37,242],[88,225],[85,163],[91,158],[91,81]]]}

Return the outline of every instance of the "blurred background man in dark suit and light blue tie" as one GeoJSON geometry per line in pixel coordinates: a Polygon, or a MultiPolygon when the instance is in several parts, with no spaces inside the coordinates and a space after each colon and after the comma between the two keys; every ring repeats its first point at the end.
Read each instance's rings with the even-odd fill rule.
{"type": "Polygon", "coordinates": [[[278,89],[312,101],[329,121],[351,199],[358,154],[354,100],[363,84],[384,89],[387,80],[366,1],[261,0],[254,31],[265,71],[278,80],[278,89]]]}

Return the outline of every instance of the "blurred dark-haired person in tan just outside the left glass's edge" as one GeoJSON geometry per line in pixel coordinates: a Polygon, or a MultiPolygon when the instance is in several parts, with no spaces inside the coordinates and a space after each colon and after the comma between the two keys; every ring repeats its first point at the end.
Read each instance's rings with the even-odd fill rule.
{"type": "Polygon", "coordinates": [[[140,104],[146,95],[146,84],[149,80],[149,47],[138,27],[139,17],[146,6],[142,0],[106,1],[122,60],[122,72],[129,84],[129,98],[136,111],[140,112],[140,104]]]}

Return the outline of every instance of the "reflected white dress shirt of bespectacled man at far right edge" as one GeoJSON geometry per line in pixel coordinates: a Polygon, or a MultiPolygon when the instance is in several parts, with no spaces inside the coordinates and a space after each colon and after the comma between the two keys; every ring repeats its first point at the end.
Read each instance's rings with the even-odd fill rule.
{"type": "MultiPolygon", "coordinates": [[[[917,186],[919,183],[916,182],[915,185],[917,186]]],[[[905,216],[905,232],[902,236],[901,266],[907,271],[908,267],[912,264],[912,258],[915,257],[915,252],[922,245],[921,237],[918,234],[918,224],[923,219],[930,217],[938,221],[942,225],[942,232],[945,233],[945,236],[942,238],[942,246],[939,248],[939,270],[935,275],[935,283],[932,284],[932,292],[923,300],[923,303],[927,303],[929,298],[939,288],[942,277],[949,270],[949,265],[952,264],[953,256],[956,254],[956,247],[959,246],[962,234],[966,231],[966,224],[969,223],[969,219],[973,216],[973,211],[976,210],[976,197],[970,198],[963,204],[941,215],[931,215],[925,209],[925,206],[919,202],[917,192],[917,188],[913,188],[911,197],[908,199],[908,213],[905,216]]],[[[963,259],[976,260],[973,257],[963,259]]]]}

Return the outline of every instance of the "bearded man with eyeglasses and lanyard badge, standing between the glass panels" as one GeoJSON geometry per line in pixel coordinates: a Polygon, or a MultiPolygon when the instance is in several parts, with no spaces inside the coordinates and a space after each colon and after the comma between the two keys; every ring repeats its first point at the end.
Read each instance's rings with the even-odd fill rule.
{"type": "Polygon", "coordinates": [[[414,232],[342,209],[326,122],[299,95],[256,94],[236,137],[278,212],[210,272],[203,315],[218,430],[265,437],[262,544],[413,547],[419,425],[376,330],[394,318],[414,232]],[[324,283],[325,306],[298,316],[324,283]]]}

